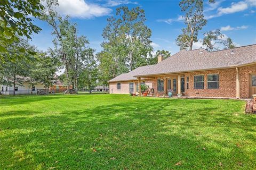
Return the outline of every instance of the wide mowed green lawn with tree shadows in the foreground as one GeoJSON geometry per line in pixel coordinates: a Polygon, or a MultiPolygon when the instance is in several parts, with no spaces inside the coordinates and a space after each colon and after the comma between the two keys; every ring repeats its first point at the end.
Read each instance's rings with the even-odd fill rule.
{"type": "Polygon", "coordinates": [[[0,169],[256,169],[241,100],[67,95],[0,100],[0,169]]]}

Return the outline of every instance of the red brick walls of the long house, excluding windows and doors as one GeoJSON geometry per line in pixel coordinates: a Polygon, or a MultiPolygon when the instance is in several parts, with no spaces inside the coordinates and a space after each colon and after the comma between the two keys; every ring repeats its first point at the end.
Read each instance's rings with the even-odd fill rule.
{"type": "MultiPolygon", "coordinates": [[[[250,74],[256,73],[256,65],[239,67],[239,83],[240,83],[240,97],[249,98],[250,96],[250,74]]],[[[199,71],[199,72],[189,72],[180,74],[181,77],[185,78],[185,92],[184,95],[188,97],[227,97],[236,98],[236,69],[222,69],[222,70],[211,70],[211,71],[199,71]],[[207,87],[207,75],[208,74],[219,74],[219,88],[209,89],[207,87]],[[204,75],[204,89],[194,89],[194,76],[204,75]],[[189,78],[188,88],[187,88],[187,77],[189,78]]],[[[150,80],[145,80],[146,84],[150,88],[154,88],[155,95],[158,93],[160,95],[167,94],[167,80],[171,80],[171,88],[173,89],[173,79],[177,81],[177,92],[178,93],[178,74],[173,75],[163,75],[162,77],[154,77],[150,80]],[[164,92],[157,92],[157,79],[164,80],[164,92]]],[[[135,83],[138,81],[130,81],[135,83]]],[[[121,90],[116,89],[117,82],[109,83],[110,94],[129,94],[129,81],[121,82],[121,90]]]]}

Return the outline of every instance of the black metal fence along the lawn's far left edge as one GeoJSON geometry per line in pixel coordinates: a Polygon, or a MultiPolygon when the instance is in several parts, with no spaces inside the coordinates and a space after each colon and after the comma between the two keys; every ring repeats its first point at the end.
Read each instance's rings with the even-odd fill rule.
{"type": "Polygon", "coordinates": [[[48,95],[55,95],[55,91],[47,89],[0,91],[0,99],[48,95]]]}

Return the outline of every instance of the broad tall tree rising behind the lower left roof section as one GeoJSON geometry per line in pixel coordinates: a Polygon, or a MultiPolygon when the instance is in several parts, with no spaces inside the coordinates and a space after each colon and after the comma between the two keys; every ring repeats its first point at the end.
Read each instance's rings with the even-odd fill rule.
{"type": "Polygon", "coordinates": [[[151,47],[151,30],[145,25],[145,11],[127,6],[116,9],[116,16],[108,20],[103,30],[103,50],[116,62],[118,73],[131,71],[147,64],[151,47]]]}

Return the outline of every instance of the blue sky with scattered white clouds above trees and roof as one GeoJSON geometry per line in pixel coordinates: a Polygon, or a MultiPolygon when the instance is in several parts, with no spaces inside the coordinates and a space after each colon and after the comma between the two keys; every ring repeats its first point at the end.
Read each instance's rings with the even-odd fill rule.
{"type": "MultiPolygon", "coordinates": [[[[132,0],[59,0],[57,11],[69,15],[71,22],[78,24],[79,35],[90,41],[90,47],[100,52],[101,36],[106,27],[107,18],[115,14],[116,8],[127,5],[130,8],[140,6],[145,10],[146,25],[152,30],[151,40],[154,51],[169,50],[171,54],[179,52],[175,39],[185,24],[181,20],[179,1],[132,1],[132,0]]],[[[256,0],[221,1],[214,4],[205,2],[207,25],[199,32],[199,41],[194,48],[200,48],[205,31],[220,29],[225,37],[233,39],[236,46],[256,44],[256,0]]],[[[35,21],[43,30],[33,36],[38,49],[52,47],[52,29],[45,22],[35,21]]]]}

